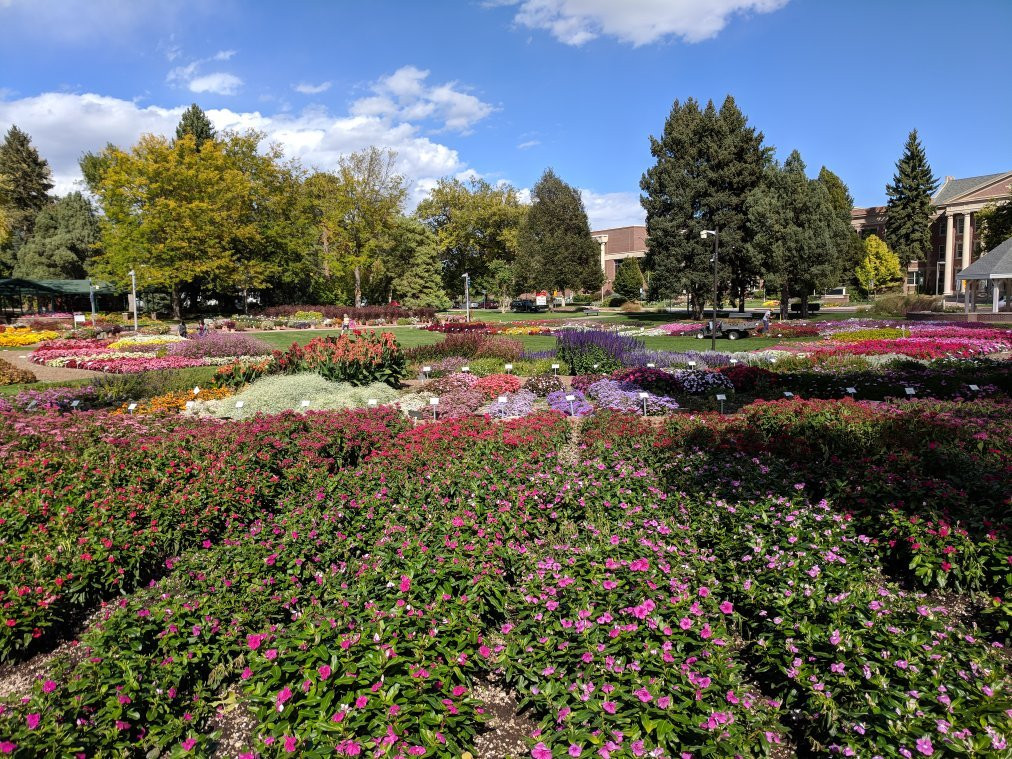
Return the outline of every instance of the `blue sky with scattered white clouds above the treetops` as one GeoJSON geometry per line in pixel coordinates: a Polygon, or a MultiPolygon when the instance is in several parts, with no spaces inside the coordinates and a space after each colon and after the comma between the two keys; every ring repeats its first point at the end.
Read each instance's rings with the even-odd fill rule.
{"type": "Polygon", "coordinates": [[[197,102],[320,169],[393,148],[413,200],[552,166],[602,228],[642,222],[674,99],[731,93],[872,204],[913,128],[940,177],[1012,169],[1010,31],[1009,0],[0,0],[0,129],[68,191],[83,151],[197,102]]]}

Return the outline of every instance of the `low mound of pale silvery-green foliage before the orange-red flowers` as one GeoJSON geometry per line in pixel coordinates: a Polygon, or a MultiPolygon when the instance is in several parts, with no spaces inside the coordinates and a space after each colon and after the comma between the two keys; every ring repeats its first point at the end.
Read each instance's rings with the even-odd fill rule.
{"type": "Polygon", "coordinates": [[[284,411],[312,412],[361,408],[370,398],[381,405],[393,403],[398,392],[385,383],[354,386],[335,383],[315,372],[262,377],[233,398],[201,403],[194,410],[219,418],[243,419],[255,414],[279,414],[284,411]],[[241,408],[236,402],[242,401],[241,408]],[[303,401],[310,405],[304,407],[303,401]]]}

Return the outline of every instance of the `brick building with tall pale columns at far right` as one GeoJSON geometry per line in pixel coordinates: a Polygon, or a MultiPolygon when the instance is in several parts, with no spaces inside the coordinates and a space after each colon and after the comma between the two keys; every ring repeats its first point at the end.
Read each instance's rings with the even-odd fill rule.
{"type": "MultiPolygon", "coordinates": [[[[912,261],[907,267],[904,290],[951,296],[955,275],[983,251],[976,234],[976,213],[989,203],[1012,197],[1012,171],[956,179],[947,176],[931,198],[931,249],[927,261],[912,261]]],[[[850,223],[862,236],[886,234],[886,206],[854,208],[850,223]]]]}

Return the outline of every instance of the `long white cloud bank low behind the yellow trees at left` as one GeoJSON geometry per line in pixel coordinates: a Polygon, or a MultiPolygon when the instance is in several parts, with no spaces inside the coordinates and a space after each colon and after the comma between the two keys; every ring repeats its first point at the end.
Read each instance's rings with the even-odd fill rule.
{"type": "MultiPolygon", "coordinates": [[[[0,132],[16,123],[31,136],[53,169],[54,192],[80,189],[78,159],[106,143],[129,148],[146,133],[172,136],[186,105],[142,106],[93,93],[46,92],[32,97],[0,99],[0,132]]],[[[283,146],[285,154],[307,167],[333,170],[338,159],[370,145],[397,151],[398,171],[411,183],[409,203],[420,200],[439,177],[467,169],[459,154],[420,134],[418,126],[370,115],[334,115],[323,108],[298,114],[208,109],[219,131],[255,129],[268,142],[283,146]]]]}

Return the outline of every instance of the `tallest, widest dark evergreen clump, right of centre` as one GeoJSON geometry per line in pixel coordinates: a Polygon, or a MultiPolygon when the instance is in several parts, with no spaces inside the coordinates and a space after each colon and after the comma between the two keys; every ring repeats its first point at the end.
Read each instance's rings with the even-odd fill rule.
{"type": "Polygon", "coordinates": [[[699,318],[713,287],[712,242],[721,240],[719,290],[744,305],[760,274],[762,258],[753,245],[748,197],[763,181],[770,150],[763,135],[748,125],[734,98],[718,111],[689,98],[675,101],[660,139],[651,138],[656,164],[640,181],[647,210],[651,297],[672,298],[686,290],[699,318]]]}

